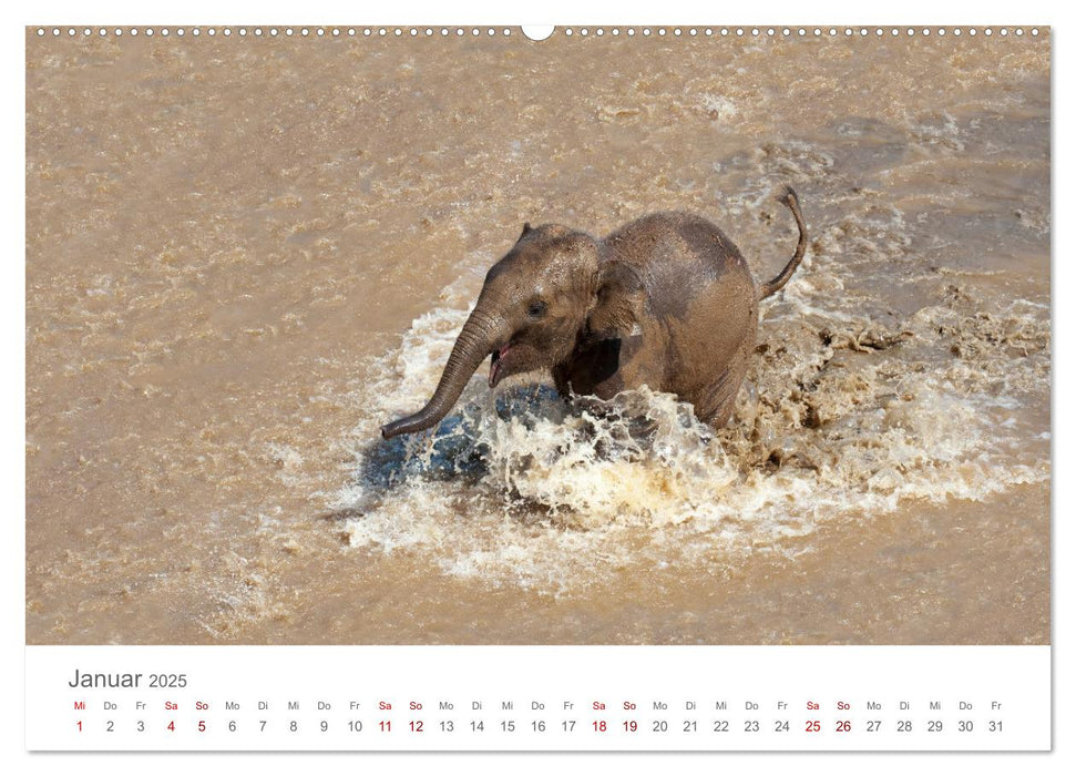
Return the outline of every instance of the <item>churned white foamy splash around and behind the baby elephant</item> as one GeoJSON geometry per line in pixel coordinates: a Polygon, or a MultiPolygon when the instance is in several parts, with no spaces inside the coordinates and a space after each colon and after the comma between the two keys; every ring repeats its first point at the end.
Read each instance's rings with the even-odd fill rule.
{"type": "Polygon", "coordinates": [[[718,432],[645,387],[567,402],[531,375],[493,397],[480,368],[438,428],[371,443],[382,419],[431,395],[469,310],[423,315],[366,367],[381,376],[375,411],[334,503],[360,515],[346,523],[351,547],[561,592],[639,561],[730,564],[785,552],[824,521],[1046,481],[1045,447],[1027,437],[1048,429],[1018,410],[1048,378],[1048,310],[954,302],[885,328],[828,309],[837,266],[810,263],[766,308],[759,363],[718,432]]]}

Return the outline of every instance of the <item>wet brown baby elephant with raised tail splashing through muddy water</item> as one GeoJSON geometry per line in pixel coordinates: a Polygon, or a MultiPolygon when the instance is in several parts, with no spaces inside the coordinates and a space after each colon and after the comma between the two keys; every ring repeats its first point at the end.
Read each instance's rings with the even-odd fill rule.
{"type": "Polygon", "coordinates": [[[646,385],[676,394],[720,428],[755,350],[758,303],[788,283],[807,248],[796,193],[786,187],[780,200],[799,226],[799,244],[785,269],[760,286],[732,241],[696,215],[655,213],[604,239],[524,224],[486,274],[433,398],[381,436],[438,423],[486,356],[490,388],[541,368],[562,396],[609,399],[646,385]]]}

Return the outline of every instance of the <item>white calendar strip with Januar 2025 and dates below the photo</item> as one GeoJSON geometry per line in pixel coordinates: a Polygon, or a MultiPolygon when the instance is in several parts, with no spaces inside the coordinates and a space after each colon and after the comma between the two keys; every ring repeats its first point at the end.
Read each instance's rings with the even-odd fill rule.
{"type": "Polygon", "coordinates": [[[1048,646],[27,647],[33,751],[1044,751],[1048,646]]]}

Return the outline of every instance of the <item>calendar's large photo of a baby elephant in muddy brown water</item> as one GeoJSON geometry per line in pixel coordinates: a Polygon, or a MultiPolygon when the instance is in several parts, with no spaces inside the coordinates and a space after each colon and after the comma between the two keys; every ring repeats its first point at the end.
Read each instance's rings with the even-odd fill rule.
{"type": "Polygon", "coordinates": [[[1047,29],[309,29],[27,30],[29,643],[1049,642],[1047,29]]]}

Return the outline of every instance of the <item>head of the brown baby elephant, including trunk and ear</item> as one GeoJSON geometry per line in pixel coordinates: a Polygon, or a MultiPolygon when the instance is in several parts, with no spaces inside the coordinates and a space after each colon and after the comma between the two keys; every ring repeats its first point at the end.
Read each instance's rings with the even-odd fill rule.
{"type": "Polygon", "coordinates": [[[486,356],[492,389],[505,377],[562,363],[582,340],[631,331],[642,308],[642,282],[605,253],[601,241],[583,232],[524,224],[512,249],[486,273],[433,397],[414,415],[382,427],[381,436],[440,422],[486,356]]]}

